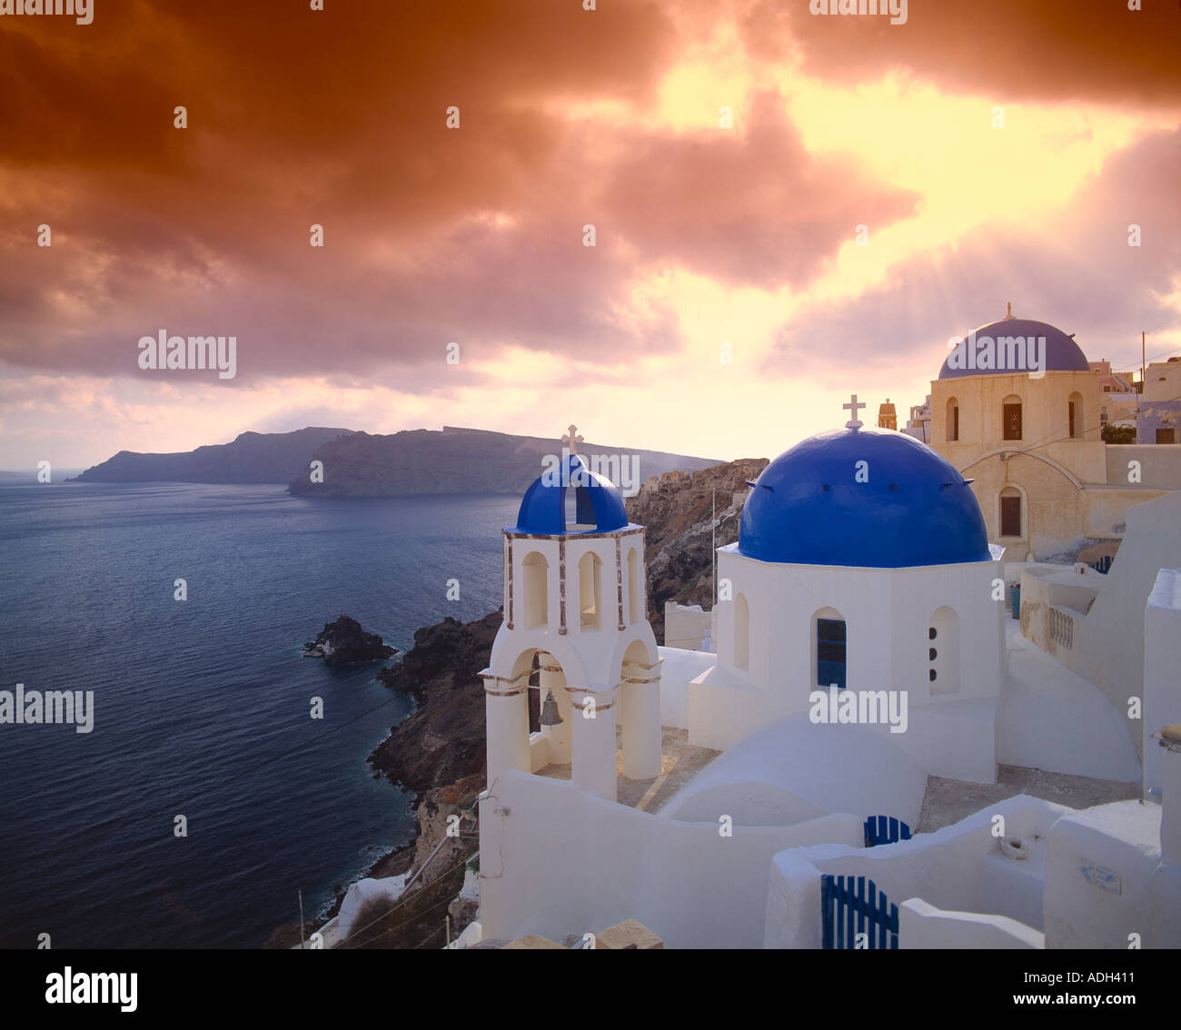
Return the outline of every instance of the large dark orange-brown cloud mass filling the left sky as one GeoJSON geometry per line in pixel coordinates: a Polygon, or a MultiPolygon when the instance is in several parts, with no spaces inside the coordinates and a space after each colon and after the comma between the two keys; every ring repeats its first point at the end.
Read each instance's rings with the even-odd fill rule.
{"type": "Polygon", "coordinates": [[[814,162],[768,98],[749,129],[696,139],[563,119],[568,100],[654,100],[679,45],[664,5],[327,6],[13,19],[0,359],[151,374],[136,341],[165,328],[236,335],[234,383],[377,369],[423,391],[478,382],[443,364],[451,340],[609,378],[678,344],[671,311],[632,302],[650,262],[798,285],[854,224],[913,207],[814,162]],[[621,135],[629,156],[605,164],[621,135]],[[34,246],[41,222],[52,248],[34,246]],[[308,246],[313,222],[324,248],[308,246]]]}

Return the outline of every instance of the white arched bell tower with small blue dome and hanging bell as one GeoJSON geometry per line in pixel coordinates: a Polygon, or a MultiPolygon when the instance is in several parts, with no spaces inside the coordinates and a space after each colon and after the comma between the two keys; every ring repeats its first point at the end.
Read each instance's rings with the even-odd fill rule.
{"type": "Polygon", "coordinates": [[[481,673],[488,785],[510,769],[569,764],[581,790],[614,801],[616,726],[622,774],[660,772],[660,658],[646,617],[644,527],[627,521],[581,442],[569,426],[561,457],[547,458],[503,532],[504,621],[481,673]],[[529,690],[542,700],[534,734],[529,690]]]}

